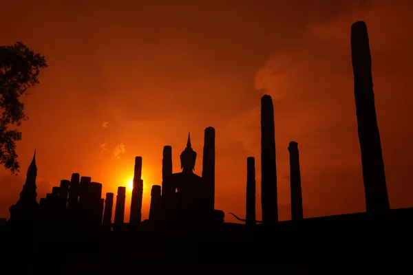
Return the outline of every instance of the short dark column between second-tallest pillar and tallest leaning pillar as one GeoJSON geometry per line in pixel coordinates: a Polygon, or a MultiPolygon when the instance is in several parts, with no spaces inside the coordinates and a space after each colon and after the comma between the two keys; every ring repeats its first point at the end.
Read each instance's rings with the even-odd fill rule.
{"type": "Polygon", "coordinates": [[[290,152],[291,219],[295,221],[304,218],[298,143],[290,142],[288,151],[290,152]]]}

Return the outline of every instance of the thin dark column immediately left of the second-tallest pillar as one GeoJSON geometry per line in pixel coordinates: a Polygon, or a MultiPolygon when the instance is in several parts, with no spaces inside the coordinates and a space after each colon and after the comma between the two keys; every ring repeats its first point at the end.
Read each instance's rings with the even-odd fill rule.
{"type": "Polygon", "coordinates": [[[246,158],[246,225],[255,224],[255,157],[246,158]]]}

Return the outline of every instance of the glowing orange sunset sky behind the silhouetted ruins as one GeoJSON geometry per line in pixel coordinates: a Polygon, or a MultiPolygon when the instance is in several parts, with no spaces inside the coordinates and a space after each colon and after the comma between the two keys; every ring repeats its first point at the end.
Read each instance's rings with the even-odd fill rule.
{"type": "MultiPolygon", "coordinates": [[[[215,208],[226,221],[235,221],[228,212],[244,217],[246,157],[255,156],[261,219],[257,89],[274,99],[280,219],[290,219],[291,140],[299,143],[305,217],[365,210],[350,58],[358,20],[370,34],[390,203],[413,206],[412,8],[407,0],[3,3],[0,45],[21,40],[49,67],[23,98],[30,119],[17,147],[22,173],[0,170],[0,217],[17,201],[36,148],[38,199],[74,172],[116,193],[141,155],[145,219],[162,146],[172,146],[179,172],[191,131],[199,175],[204,128],[213,126],[215,208]]],[[[130,192],[126,221],[129,203],[130,192]]]]}

